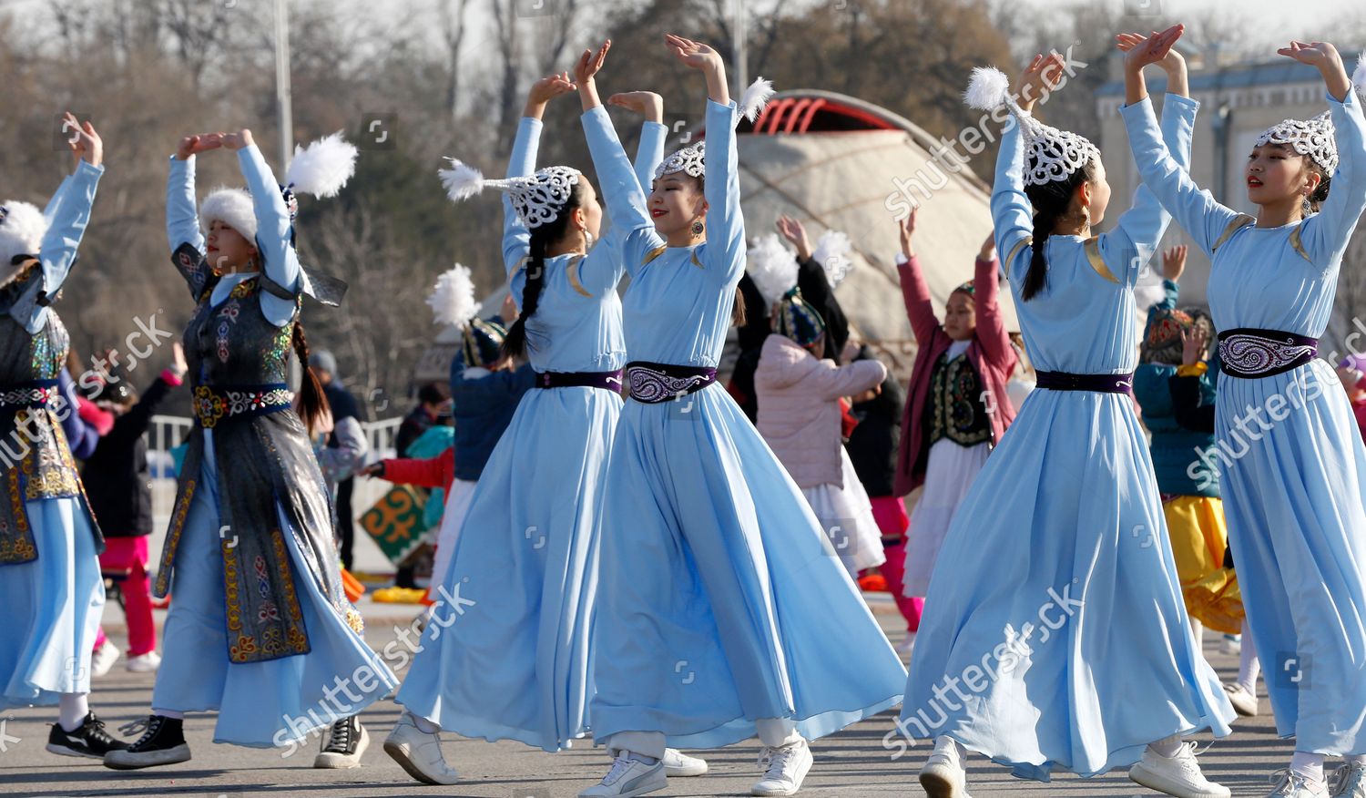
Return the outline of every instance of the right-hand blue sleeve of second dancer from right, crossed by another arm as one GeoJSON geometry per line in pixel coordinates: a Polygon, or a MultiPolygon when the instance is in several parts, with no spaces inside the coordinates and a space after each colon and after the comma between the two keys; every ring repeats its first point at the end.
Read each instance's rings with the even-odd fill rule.
{"type": "MultiPolygon", "coordinates": [[[[1188,97],[1168,94],[1162,98],[1162,143],[1182,171],[1190,169],[1191,135],[1198,109],[1199,102],[1188,97]]],[[[1134,194],[1134,205],[1120,215],[1115,230],[1101,234],[1097,242],[1101,257],[1121,283],[1132,286],[1138,281],[1138,275],[1153,260],[1171,221],[1172,216],[1162,208],[1157,194],[1146,184],[1139,186],[1134,194]]]]}

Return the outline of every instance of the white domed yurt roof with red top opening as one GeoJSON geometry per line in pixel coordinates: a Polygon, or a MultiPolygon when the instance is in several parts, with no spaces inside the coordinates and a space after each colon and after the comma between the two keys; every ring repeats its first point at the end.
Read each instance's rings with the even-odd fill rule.
{"type": "MultiPolygon", "coordinates": [[[[966,167],[952,171],[952,159],[933,163],[933,146],[938,142],[908,119],[818,90],[780,92],[755,133],[739,137],[747,235],[772,232],[783,213],[806,225],[813,246],[826,230],[847,234],[854,266],[836,297],[855,335],[881,351],[902,377],[910,372],[915,343],[896,273],[895,210],[910,202],[893,179],[918,182],[929,191],[926,198],[912,190],[921,204],[912,243],[937,313],[949,292],[973,277],[977,253],[992,231],[988,186],[966,167]]],[[[1001,292],[1001,306],[1007,329],[1019,329],[1008,291],[1001,292]]]]}

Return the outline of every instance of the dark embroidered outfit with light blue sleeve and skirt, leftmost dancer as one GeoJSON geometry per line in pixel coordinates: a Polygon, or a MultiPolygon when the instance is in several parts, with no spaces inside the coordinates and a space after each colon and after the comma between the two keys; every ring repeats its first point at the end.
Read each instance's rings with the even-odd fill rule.
{"type": "MultiPolygon", "coordinates": [[[[76,257],[102,167],[81,161],[48,204],[40,262],[0,288],[0,709],[90,691],[104,538],[61,432],[70,336],[48,307],[76,257]],[[49,403],[51,402],[51,403],[49,403]]],[[[8,266],[8,264],[5,264],[8,266]]]]}

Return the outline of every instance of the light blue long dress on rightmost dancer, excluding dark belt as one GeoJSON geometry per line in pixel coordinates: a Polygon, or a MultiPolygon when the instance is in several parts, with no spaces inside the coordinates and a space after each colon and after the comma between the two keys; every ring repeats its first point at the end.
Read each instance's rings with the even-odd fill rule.
{"type": "MultiPolygon", "coordinates": [[[[1227,238],[1239,215],[1172,161],[1146,101],[1123,109],[1145,184],[1212,257],[1217,329],[1320,338],[1328,325],[1343,251],[1366,208],[1361,98],[1329,96],[1328,105],[1340,163],[1322,210],[1227,238]]],[[[1366,753],[1366,450],[1347,396],[1332,365],[1314,359],[1264,379],[1220,374],[1216,407],[1220,450],[1191,452],[1191,469],[1220,476],[1276,730],[1294,735],[1296,750],[1366,753]]]]}

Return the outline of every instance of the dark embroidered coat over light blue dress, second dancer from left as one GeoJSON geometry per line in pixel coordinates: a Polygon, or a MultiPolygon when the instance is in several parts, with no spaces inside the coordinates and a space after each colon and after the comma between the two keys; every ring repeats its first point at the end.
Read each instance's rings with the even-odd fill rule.
{"type": "Polygon", "coordinates": [[[285,385],[313,283],[260,150],[239,160],[264,275],[213,273],[195,224],[194,161],[171,161],[172,261],[198,302],[184,331],[197,424],[154,588],[172,604],[152,706],[217,709],[216,742],[264,747],[359,712],[396,679],[342,590],[332,503],[285,385]]]}

